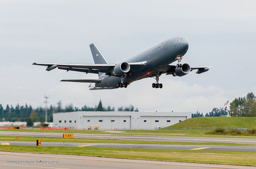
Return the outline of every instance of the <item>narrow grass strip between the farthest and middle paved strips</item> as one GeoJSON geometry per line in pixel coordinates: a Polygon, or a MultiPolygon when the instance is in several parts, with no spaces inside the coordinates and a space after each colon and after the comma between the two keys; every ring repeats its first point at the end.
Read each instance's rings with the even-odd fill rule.
{"type": "Polygon", "coordinates": [[[177,142],[177,141],[140,141],[140,140],[114,140],[114,139],[90,139],[90,138],[57,138],[57,137],[29,137],[1,136],[0,141],[32,141],[41,139],[42,142],[78,142],[78,143],[118,143],[118,144],[173,144],[173,145],[255,145],[255,144],[236,144],[219,142],[177,142]]]}

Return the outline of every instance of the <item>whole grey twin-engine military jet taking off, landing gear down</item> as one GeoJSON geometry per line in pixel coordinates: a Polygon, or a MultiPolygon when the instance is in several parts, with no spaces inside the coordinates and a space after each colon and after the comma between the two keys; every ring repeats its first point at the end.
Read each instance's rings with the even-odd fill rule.
{"type": "Polygon", "coordinates": [[[162,88],[159,83],[161,74],[184,76],[190,71],[197,69],[200,74],[209,70],[209,66],[190,67],[189,64],[181,64],[183,56],[188,51],[188,42],[182,37],[170,38],[157,45],[135,55],[134,57],[116,64],[109,64],[95,44],[90,44],[95,64],[58,64],[58,63],[33,63],[33,65],[47,66],[50,71],[58,67],[67,71],[79,71],[95,73],[98,79],[66,79],[61,81],[89,82],[90,90],[127,88],[132,82],[146,77],[155,78],[153,88],[162,88]],[[177,65],[171,63],[178,60],[177,65]],[[95,83],[95,86],[92,86],[95,83]]]}

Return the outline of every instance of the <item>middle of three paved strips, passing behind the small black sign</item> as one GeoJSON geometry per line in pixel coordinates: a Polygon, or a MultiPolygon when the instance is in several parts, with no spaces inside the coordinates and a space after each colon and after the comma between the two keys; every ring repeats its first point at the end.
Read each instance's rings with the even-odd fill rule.
{"type": "MultiPolygon", "coordinates": [[[[10,145],[32,145],[30,141],[0,141],[10,145]]],[[[150,149],[182,149],[182,150],[219,150],[219,151],[251,151],[256,152],[256,146],[227,146],[227,145],[172,145],[172,144],[117,144],[117,143],[75,143],[75,142],[44,142],[41,146],[79,146],[79,147],[115,147],[115,148],[150,148],[150,149]]]]}

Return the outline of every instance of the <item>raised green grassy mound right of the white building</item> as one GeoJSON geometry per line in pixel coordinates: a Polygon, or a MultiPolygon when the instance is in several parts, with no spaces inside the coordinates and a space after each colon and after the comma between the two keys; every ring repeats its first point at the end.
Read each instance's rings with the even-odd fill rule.
{"type": "Polygon", "coordinates": [[[165,127],[163,130],[172,128],[256,128],[256,118],[253,117],[196,117],[180,123],[165,127]]]}

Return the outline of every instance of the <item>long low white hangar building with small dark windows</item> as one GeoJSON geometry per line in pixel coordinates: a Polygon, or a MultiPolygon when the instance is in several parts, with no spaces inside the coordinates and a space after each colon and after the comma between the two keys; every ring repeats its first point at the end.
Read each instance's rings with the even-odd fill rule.
{"type": "Polygon", "coordinates": [[[53,114],[54,128],[100,130],[153,130],[191,118],[189,112],[68,112],[53,114]]]}

